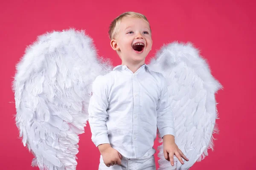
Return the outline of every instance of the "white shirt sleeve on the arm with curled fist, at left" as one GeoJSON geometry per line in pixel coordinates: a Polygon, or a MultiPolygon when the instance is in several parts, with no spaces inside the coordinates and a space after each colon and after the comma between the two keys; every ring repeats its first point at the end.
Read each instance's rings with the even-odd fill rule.
{"type": "Polygon", "coordinates": [[[88,106],[88,122],[92,141],[96,145],[110,143],[108,139],[108,83],[104,76],[98,76],[92,85],[92,96],[88,106]]]}

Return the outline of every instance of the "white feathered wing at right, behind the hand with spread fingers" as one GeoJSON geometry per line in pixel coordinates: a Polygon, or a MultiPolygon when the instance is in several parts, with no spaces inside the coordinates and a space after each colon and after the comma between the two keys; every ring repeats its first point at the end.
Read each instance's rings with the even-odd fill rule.
{"type": "MultiPolygon", "coordinates": [[[[190,43],[164,46],[149,66],[166,77],[174,114],[175,143],[189,159],[182,165],[175,158],[175,166],[172,167],[163,156],[162,144],[158,146],[158,170],[187,170],[208,155],[207,149],[213,149],[212,134],[218,131],[215,93],[221,85],[190,43]]],[[[159,142],[163,142],[162,139],[159,142]]]]}

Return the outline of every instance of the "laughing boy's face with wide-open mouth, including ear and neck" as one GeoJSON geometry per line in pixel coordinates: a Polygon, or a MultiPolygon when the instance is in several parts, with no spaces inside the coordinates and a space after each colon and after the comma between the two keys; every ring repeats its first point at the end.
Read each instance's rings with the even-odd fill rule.
{"type": "Polygon", "coordinates": [[[152,48],[148,22],[140,18],[123,18],[116,39],[111,40],[111,46],[117,51],[122,62],[134,64],[145,62],[152,48]]]}

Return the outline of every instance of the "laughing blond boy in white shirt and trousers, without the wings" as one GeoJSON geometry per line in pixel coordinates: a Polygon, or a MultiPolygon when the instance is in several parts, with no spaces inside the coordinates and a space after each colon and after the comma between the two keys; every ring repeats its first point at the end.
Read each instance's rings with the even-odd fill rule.
{"type": "Polygon", "coordinates": [[[126,12],[110,26],[111,47],[122,60],[96,77],[89,103],[92,141],[101,153],[99,170],[155,170],[157,128],[165,159],[188,161],[175,144],[165,78],[145,65],[152,47],[151,28],[142,14],[126,12]]]}

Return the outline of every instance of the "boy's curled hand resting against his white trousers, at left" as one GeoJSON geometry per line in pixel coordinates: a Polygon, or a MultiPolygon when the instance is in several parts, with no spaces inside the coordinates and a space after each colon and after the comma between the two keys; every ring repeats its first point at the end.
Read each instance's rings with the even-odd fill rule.
{"type": "Polygon", "coordinates": [[[122,155],[113,147],[108,147],[102,153],[102,159],[107,167],[113,166],[114,164],[121,164],[122,155]]]}

